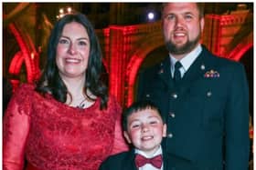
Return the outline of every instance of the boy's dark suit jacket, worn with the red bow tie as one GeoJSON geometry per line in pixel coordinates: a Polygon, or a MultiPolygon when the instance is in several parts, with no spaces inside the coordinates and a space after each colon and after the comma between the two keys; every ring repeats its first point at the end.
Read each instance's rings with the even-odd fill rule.
{"type": "MultiPolygon", "coordinates": [[[[111,155],[105,161],[103,161],[100,170],[137,170],[134,159],[135,154],[133,149],[117,155],[111,155]]],[[[168,161],[165,159],[164,153],[163,161],[164,170],[171,170],[166,168],[168,161]]]]}

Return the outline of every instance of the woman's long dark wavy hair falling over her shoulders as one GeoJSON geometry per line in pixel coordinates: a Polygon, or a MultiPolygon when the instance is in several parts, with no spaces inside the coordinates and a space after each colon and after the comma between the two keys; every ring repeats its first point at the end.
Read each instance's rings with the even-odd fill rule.
{"type": "MultiPolygon", "coordinates": [[[[68,89],[59,76],[59,69],[56,65],[56,49],[63,27],[71,22],[80,23],[87,30],[90,38],[91,49],[86,70],[86,81],[84,86],[85,95],[90,90],[93,95],[101,98],[101,109],[107,107],[108,88],[102,81],[102,54],[98,37],[94,32],[91,22],[85,15],[70,14],[65,15],[54,25],[48,40],[48,60],[43,74],[37,82],[36,90],[40,94],[51,94],[59,102],[65,103],[67,100],[68,89]]],[[[105,76],[105,75],[104,75],[105,76]]],[[[88,96],[88,95],[87,95],[88,96]]],[[[88,96],[90,97],[90,96],[88,96]]],[[[95,100],[95,99],[94,99],[95,100]]]]}

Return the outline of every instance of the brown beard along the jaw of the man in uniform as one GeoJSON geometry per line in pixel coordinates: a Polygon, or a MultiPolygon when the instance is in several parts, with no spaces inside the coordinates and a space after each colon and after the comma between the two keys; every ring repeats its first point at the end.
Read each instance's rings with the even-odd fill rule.
{"type": "Polygon", "coordinates": [[[167,50],[169,51],[170,54],[172,55],[184,55],[190,53],[198,44],[200,41],[200,36],[201,34],[198,34],[197,37],[192,40],[192,41],[187,41],[185,45],[182,46],[176,46],[173,42],[171,41],[166,41],[165,45],[167,47],[167,50]]]}

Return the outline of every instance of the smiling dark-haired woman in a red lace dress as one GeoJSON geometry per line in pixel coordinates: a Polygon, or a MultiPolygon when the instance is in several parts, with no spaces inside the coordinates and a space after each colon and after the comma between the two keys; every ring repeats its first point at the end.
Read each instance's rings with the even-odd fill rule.
{"type": "Polygon", "coordinates": [[[86,16],[54,26],[48,62],[37,85],[21,85],[4,120],[4,169],[98,169],[127,150],[121,107],[101,81],[101,49],[86,16]]]}

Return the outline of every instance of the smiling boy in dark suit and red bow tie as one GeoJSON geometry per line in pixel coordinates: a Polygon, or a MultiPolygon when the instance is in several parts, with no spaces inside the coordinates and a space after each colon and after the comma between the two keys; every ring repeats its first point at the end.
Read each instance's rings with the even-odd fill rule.
{"type": "Polygon", "coordinates": [[[134,148],[109,156],[100,170],[164,170],[167,162],[163,164],[161,142],[166,136],[166,125],[154,104],[144,101],[128,107],[123,113],[123,135],[134,148]]]}

